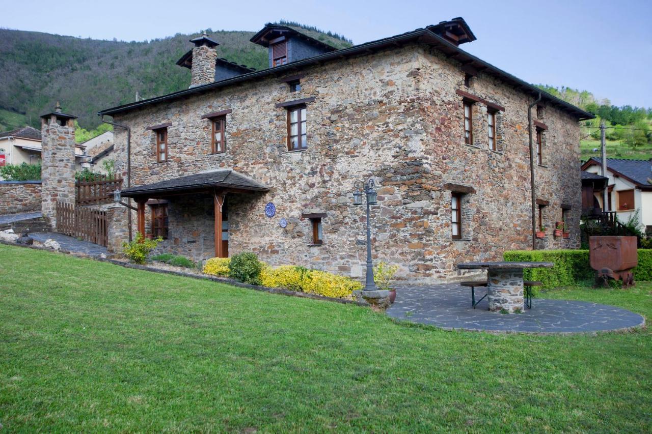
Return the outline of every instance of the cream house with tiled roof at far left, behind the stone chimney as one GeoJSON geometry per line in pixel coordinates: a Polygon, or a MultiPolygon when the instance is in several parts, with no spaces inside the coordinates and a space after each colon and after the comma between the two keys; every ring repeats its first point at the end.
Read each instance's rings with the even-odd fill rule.
{"type": "MultiPolygon", "coordinates": [[[[75,166],[83,167],[85,145],[75,145],[75,166]]],[[[5,164],[36,164],[41,160],[41,133],[31,126],[23,126],[0,133],[0,166],[5,164]],[[4,158],[3,158],[4,156],[4,158]]],[[[2,178],[0,178],[2,179],[2,178]]]]}

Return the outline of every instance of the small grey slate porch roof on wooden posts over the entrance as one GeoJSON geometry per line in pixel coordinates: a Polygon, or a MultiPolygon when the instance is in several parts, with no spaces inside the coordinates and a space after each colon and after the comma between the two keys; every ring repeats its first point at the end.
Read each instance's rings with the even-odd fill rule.
{"type": "Polygon", "coordinates": [[[135,197],[148,194],[171,193],[185,190],[209,190],[210,188],[237,188],[252,192],[269,192],[269,187],[258,181],[244,176],[233,169],[221,169],[196,175],[188,175],[154,182],[137,187],[126,188],[121,192],[123,196],[135,197]]]}

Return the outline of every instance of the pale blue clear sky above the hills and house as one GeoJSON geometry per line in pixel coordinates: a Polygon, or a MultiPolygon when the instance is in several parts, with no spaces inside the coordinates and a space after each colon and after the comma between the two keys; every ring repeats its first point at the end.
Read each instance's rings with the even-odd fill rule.
{"type": "Polygon", "coordinates": [[[652,0],[0,0],[0,11],[0,27],[84,38],[258,31],[284,19],[355,44],[462,16],[477,40],[461,48],[522,80],[587,90],[617,106],[652,107],[652,0]]]}

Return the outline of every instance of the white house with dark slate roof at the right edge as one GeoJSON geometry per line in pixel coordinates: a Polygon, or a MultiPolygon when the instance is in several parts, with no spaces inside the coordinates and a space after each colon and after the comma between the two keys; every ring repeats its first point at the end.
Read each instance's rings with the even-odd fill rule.
{"type": "MultiPolygon", "coordinates": [[[[602,159],[592,157],[582,170],[602,175],[602,159]]],[[[652,231],[652,160],[607,158],[607,207],[602,205],[604,188],[596,190],[597,206],[615,211],[621,222],[627,222],[638,210],[638,222],[652,231]]]]}

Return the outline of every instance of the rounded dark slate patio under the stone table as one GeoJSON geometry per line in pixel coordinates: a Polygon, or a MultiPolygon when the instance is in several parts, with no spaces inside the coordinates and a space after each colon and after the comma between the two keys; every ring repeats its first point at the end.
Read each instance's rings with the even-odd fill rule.
{"type": "MultiPolygon", "coordinates": [[[[476,299],[486,293],[475,290],[476,299]]],[[[591,302],[535,298],[532,309],[505,315],[487,310],[486,298],[471,308],[471,289],[460,285],[403,286],[396,289],[390,317],[447,330],[492,332],[585,333],[642,326],[638,313],[591,302]]]]}

